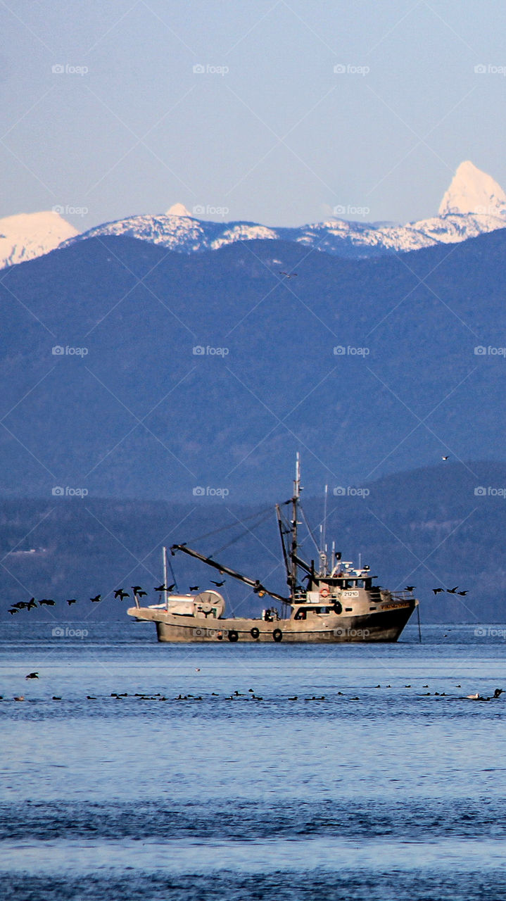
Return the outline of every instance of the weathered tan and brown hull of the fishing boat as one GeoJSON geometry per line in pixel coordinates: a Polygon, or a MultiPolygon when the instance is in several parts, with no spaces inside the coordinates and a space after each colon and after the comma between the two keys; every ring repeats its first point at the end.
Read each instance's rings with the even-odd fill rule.
{"type": "Polygon", "coordinates": [[[275,642],[276,639],[284,643],[320,644],[396,642],[416,603],[414,599],[404,601],[394,607],[390,605],[388,610],[370,614],[327,614],[321,617],[321,622],[293,619],[277,620],[274,623],[265,623],[260,619],[216,620],[176,616],[149,607],[131,607],[128,614],[136,619],[155,623],[158,642],[275,642]]]}

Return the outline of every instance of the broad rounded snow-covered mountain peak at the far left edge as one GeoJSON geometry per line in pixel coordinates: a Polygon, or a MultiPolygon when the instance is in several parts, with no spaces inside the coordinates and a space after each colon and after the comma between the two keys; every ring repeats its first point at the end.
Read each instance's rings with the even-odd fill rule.
{"type": "Polygon", "coordinates": [[[22,213],[0,219],[0,268],[41,257],[79,232],[59,213],[22,213]]]}

